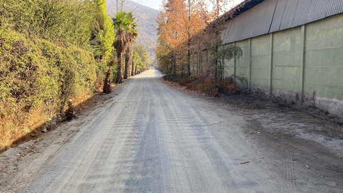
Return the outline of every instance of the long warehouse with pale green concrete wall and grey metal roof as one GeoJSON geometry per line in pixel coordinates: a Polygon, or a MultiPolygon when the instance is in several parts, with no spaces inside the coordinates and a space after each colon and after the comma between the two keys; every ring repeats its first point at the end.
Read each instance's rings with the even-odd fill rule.
{"type": "Polygon", "coordinates": [[[342,0],[244,1],[226,12],[223,46],[243,56],[224,61],[224,77],[343,116],[342,13],[342,0]]]}

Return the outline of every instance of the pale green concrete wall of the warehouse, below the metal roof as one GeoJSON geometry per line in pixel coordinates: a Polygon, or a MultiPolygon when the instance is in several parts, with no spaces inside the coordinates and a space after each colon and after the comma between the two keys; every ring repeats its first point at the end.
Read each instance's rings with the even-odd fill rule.
{"type": "Polygon", "coordinates": [[[225,61],[224,76],[285,100],[314,96],[320,109],[343,116],[343,14],[233,44],[243,57],[225,61]]]}

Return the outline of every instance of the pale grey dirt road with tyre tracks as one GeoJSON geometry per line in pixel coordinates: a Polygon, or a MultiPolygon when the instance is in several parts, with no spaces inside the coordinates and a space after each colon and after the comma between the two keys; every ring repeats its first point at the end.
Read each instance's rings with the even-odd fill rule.
{"type": "Polygon", "coordinates": [[[254,132],[257,125],[228,104],[160,77],[145,71],[59,134],[51,131],[50,141],[19,147],[45,148],[21,158],[3,153],[17,156],[19,169],[0,180],[0,192],[343,191],[338,155],[314,141],[254,132]]]}

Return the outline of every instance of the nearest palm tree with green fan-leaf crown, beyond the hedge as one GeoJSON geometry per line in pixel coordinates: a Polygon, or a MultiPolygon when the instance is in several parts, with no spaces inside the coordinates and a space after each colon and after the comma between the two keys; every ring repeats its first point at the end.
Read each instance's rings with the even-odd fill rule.
{"type": "Polygon", "coordinates": [[[123,53],[126,51],[128,43],[130,43],[133,38],[132,36],[138,36],[138,32],[135,29],[138,25],[137,23],[134,23],[134,17],[131,12],[117,12],[112,20],[116,31],[117,39],[114,46],[118,58],[118,71],[115,82],[121,83],[123,82],[123,53]]]}

